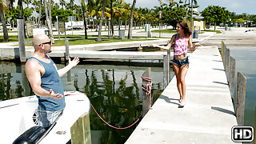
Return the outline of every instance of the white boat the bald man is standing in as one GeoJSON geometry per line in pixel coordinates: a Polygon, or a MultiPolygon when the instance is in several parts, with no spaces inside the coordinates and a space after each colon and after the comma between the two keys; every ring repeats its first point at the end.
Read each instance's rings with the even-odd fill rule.
{"type": "Polygon", "coordinates": [[[38,98],[35,95],[0,102],[0,143],[13,143],[17,141],[15,139],[22,137],[21,134],[23,134],[23,138],[29,134],[30,139],[40,144],[69,143],[70,127],[83,114],[90,114],[90,100],[86,94],[78,91],[66,91],[64,94],[66,107],[63,114],[54,125],[50,126],[48,131],[36,125],[38,98]]]}

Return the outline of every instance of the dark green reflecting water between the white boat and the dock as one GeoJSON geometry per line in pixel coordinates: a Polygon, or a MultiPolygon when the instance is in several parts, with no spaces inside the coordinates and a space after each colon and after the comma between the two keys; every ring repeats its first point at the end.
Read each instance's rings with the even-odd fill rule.
{"type": "MultiPolygon", "coordinates": [[[[57,64],[58,69],[64,67],[57,64]]],[[[64,90],[86,93],[98,113],[117,127],[130,126],[142,115],[142,74],[146,66],[78,65],[62,77],[64,90]]],[[[162,93],[162,67],[152,67],[153,102],[162,93]]],[[[172,74],[173,75],[173,74],[172,74]]],[[[33,95],[24,66],[0,62],[0,101],[33,95]]],[[[124,143],[135,129],[114,130],[106,126],[92,110],[92,143],[124,143]]]]}

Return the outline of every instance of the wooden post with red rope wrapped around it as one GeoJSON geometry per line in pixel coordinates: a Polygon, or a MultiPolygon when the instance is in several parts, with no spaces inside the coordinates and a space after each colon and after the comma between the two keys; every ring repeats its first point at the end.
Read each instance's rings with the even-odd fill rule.
{"type": "MultiPolygon", "coordinates": [[[[142,77],[150,78],[151,68],[147,68],[146,71],[142,74],[142,77]]],[[[150,84],[149,81],[146,81],[142,78],[142,85],[150,84]]],[[[146,90],[142,90],[142,117],[150,110],[150,95],[146,94],[146,90]]]]}

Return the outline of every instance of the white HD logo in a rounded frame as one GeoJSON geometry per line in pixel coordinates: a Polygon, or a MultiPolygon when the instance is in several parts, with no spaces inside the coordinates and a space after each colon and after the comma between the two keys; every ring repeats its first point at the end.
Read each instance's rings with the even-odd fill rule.
{"type": "Polygon", "coordinates": [[[252,126],[233,126],[231,137],[234,142],[253,142],[254,128],[252,126]]]}

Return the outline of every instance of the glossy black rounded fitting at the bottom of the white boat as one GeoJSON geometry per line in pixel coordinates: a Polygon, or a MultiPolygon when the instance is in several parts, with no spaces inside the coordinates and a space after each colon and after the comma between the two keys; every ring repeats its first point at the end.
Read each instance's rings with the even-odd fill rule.
{"type": "Polygon", "coordinates": [[[42,126],[33,126],[26,130],[18,138],[15,139],[13,144],[32,144],[37,143],[40,138],[46,133],[46,129],[42,126]]]}

